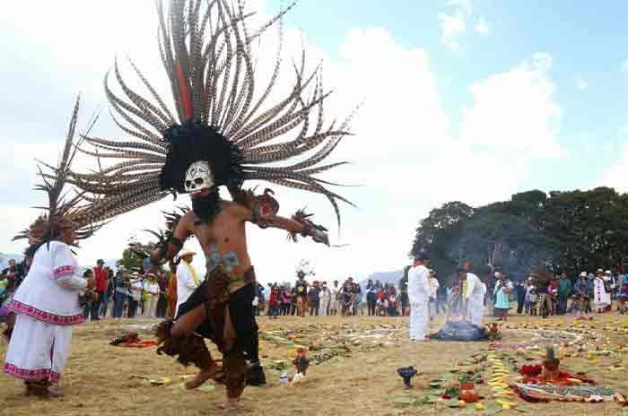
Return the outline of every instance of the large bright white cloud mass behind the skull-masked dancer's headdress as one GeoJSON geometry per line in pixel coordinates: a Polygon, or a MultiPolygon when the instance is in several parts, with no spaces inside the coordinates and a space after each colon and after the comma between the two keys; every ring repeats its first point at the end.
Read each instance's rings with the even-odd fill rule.
{"type": "MultiPolygon", "coordinates": [[[[153,11],[153,2],[132,2],[138,10],[134,8],[132,13],[135,14],[131,16],[118,15],[119,9],[110,6],[113,2],[107,5],[90,3],[89,6],[84,3],[57,4],[55,7],[63,7],[57,12],[50,6],[46,13],[38,14],[47,17],[38,18],[36,24],[29,22],[28,30],[25,29],[27,26],[15,23],[21,22],[18,17],[25,15],[26,5],[12,3],[10,13],[0,16],[0,21],[6,22],[0,25],[0,34],[4,35],[4,39],[22,37],[30,48],[21,51],[21,54],[32,53],[38,58],[38,66],[48,69],[54,83],[54,88],[49,88],[42,95],[42,91],[31,88],[30,82],[26,82],[36,77],[37,73],[32,71],[37,68],[32,65],[20,67],[12,79],[15,84],[23,86],[21,97],[24,102],[49,100],[63,103],[58,117],[52,117],[41,127],[43,131],[54,129],[47,137],[59,137],[55,144],[61,143],[76,91],[85,92],[83,101],[87,109],[83,114],[86,116],[95,103],[102,102],[102,75],[112,64],[116,51],[121,56],[126,52],[133,56],[149,79],[159,75],[157,79],[160,81],[155,82],[155,88],[164,91],[164,94],[168,91],[161,76],[153,39],[153,13],[144,17],[145,11],[153,11]],[[73,9],[74,6],[77,8],[73,9]],[[58,19],[50,19],[50,16],[63,15],[70,10],[73,22],[89,22],[91,30],[55,30],[58,19]],[[102,16],[102,19],[94,20],[93,15],[102,16]],[[112,21],[117,22],[113,33],[112,21]],[[89,36],[76,38],[76,32],[88,33],[89,36]],[[111,35],[113,38],[110,38],[111,35]],[[71,39],[78,43],[72,43],[71,39]],[[146,45],[150,47],[146,48],[146,45]],[[50,51],[41,55],[45,48],[50,48],[50,51]]],[[[114,4],[121,7],[123,3],[114,4]]],[[[468,8],[463,3],[457,4],[462,7],[461,15],[470,13],[470,3],[468,8]]],[[[290,23],[289,15],[283,39],[286,54],[293,56],[301,48],[301,37],[297,30],[290,29],[290,23]]],[[[264,44],[265,54],[271,58],[273,54],[267,51],[274,50],[273,33],[268,32],[264,44]]],[[[530,163],[538,156],[534,148],[546,150],[556,146],[560,108],[554,102],[554,83],[549,78],[551,56],[536,55],[530,62],[517,65],[504,74],[493,74],[476,82],[471,89],[473,105],[466,110],[463,126],[456,134],[452,131],[450,115],[444,109],[438,88],[442,80],[435,74],[430,56],[423,48],[405,48],[383,28],[348,30],[340,48],[342,59],[331,58],[328,51],[321,50],[307,39],[304,43],[311,65],[323,59],[325,83],[337,90],[326,107],[327,120],[336,116],[342,118],[358,100],[365,99],[353,123],[356,135],[347,137],[334,157],[334,160],[351,160],[353,164],[328,175],[336,182],[364,186],[338,189],[340,194],[360,207],[358,210],[343,207],[340,235],[336,233],[336,219],[324,198],[275,187],[282,214],[289,215],[307,204],[308,209],[317,214],[314,220],[332,230],[334,242],[350,246],[327,248],[309,240],[297,245],[286,242],[282,231],[249,227],[250,255],[262,282],[292,280],[294,267],[301,258],[310,259],[318,276],[327,281],[352,274],[363,276],[365,273],[400,268],[406,264],[406,253],[417,221],[430,209],[454,199],[469,204],[485,204],[507,198],[518,190],[519,180],[525,178],[530,163]],[[522,132],[530,136],[523,137],[522,132]],[[510,143],[513,139],[520,143],[510,143]],[[504,146],[500,141],[509,144],[504,146]],[[437,184],[432,185],[435,177],[438,178],[437,184]]],[[[259,64],[261,68],[264,68],[263,61],[259,64]]],[[[290,60],[285,59],[284,62],[286,65],[278,85],[282,91],[286,91],[293,80],[290,60]]],[[[4,70],[5,66],[0,67],[0,75],[4,70]]],[[[265,71],[262,69],[262,78],[265,71]]],[[[131,73],[126,71],[125,74],[131,73]]],[[[129,77],[127,82],[139,85],[133,77],[129,77]]],[[[13,103],[9,101],[11,96],[4,94],[8,104],[13,103]]],[[[107,108],[104,102],[102,106],[107,108]]],[[[18,122],[32,117],[33,110],[25,106],[17,113],[14,124],[18,127],[13,141],[28,143],[25,139],[31,135],[31,127],[18,122]]],[[[103,113],[95,133],[124,137],[112,125],[106,111],[103,113]]],[[[49,144],[37,147],[37,143],[43,143],[43,140],[33,144],[34,147],[26,145],[23,152],[29,154],[22,154],[22,160],[16,162],[16,166],[0,172],[4,182],[10,183],[19,176],[29,174],[31,177],[26,182],[30,187],[33,176],[28,172],[32,172],[32,164],[22,168],[17,165],[31,160],[31,156],[35,155],[33,153],[44,156],[45,160],[52,159],[56,154],[48,147],[49,144]]],[[[36,214],[22,206],[39,204],[42,199],[41,195],[30,191],[19,191],[28,199],[23,205],[14,204],[7,200],[6,195],[0,195],[0,208],[8,213],[0,224],[0,251],[3,252],[17,253],[22,250],[22,243],[11,243],[9,239],[36,214]]],[[[185,203],[187,197],[180,196],[175,204],[185,203]]],[[[79,251],[80,261],[91,264],[99,257],[119,256],[132,233],[144,236],[141,230],[153,229],[161,223],[159,211],[171,209],[175,204],[167,198],[159,204],[118,217],[94,238],[83,243],[79,251]]],[[[198,249],[195,242],[190,244],[198,249]]],[[[199,269],[203,270],[202,258],[196,261],[199,269]]]]}

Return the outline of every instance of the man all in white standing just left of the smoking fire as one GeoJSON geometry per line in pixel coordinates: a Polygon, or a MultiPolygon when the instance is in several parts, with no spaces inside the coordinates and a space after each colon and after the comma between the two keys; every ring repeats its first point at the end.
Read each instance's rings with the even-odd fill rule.
{"type": "Polygon", "coordinates": [[[413,267],[408,271],[408,300],[410,300],[410,341],[425,341],[425,330],[430,315],[430,272],[429,258],[425,254],[416,256],[413,267]]]}

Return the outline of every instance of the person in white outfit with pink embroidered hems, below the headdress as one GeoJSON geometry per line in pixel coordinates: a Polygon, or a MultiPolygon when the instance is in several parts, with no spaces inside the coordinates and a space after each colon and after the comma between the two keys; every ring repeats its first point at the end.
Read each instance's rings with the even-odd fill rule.
{"type": "Polygon", "coordinates": [[[34,253],[31,270],[9,305],[16,316],[4,372],[24,380],[26,394],[51,396],[57,394],[48,387],[58,382],[70,352],[72,326],[85,320],[79,293],[96,282],[83,279],[70,250],[71,221],[57,219],[53,227],[39,219],[31,234],[33,242],[45,237],[29,248],[34,253]]]}

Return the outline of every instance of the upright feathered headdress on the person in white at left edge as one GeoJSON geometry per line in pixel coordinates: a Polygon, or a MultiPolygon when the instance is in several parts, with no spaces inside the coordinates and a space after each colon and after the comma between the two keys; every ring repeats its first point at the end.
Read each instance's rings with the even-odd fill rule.
{"type": "MultiPolygon", "coordinates": [[[[79,97],[74,104],[70,126],[65,136],[64,150],[61,153],[57,167],[39,161],[44,169],[51,171],[51,173],[47,173],[41,166],[38,166],[39,177],[42,182],[35,186],[35,189],[46,192],[48,195],[48,205],[35,208],[44,210],[45,212],[39,215],[37,220],[35,220],[28,229],[22,230],[13,237],[13,240],[30,238],[32,242],[41,243],[43,241],[56,239],[59,232],[67,228],[74,228],[76,238],[83,239],[91,236],[92,233],[99,228],[99,225],[94,225],[89,221],[90,215],[88,212],[90,207],[84,204],[82,206],[79,205],[83,199],[83,195],[77,194],[69,198],[67,193],[65,193],[65,182],[76,152],[76,148],[74,147],[74,131],[78,120],[80,103],[81,99],[79,97]]],[[[95,119],[92,119],[91,125],[93,125],[94,122],[95,119]]]]}

